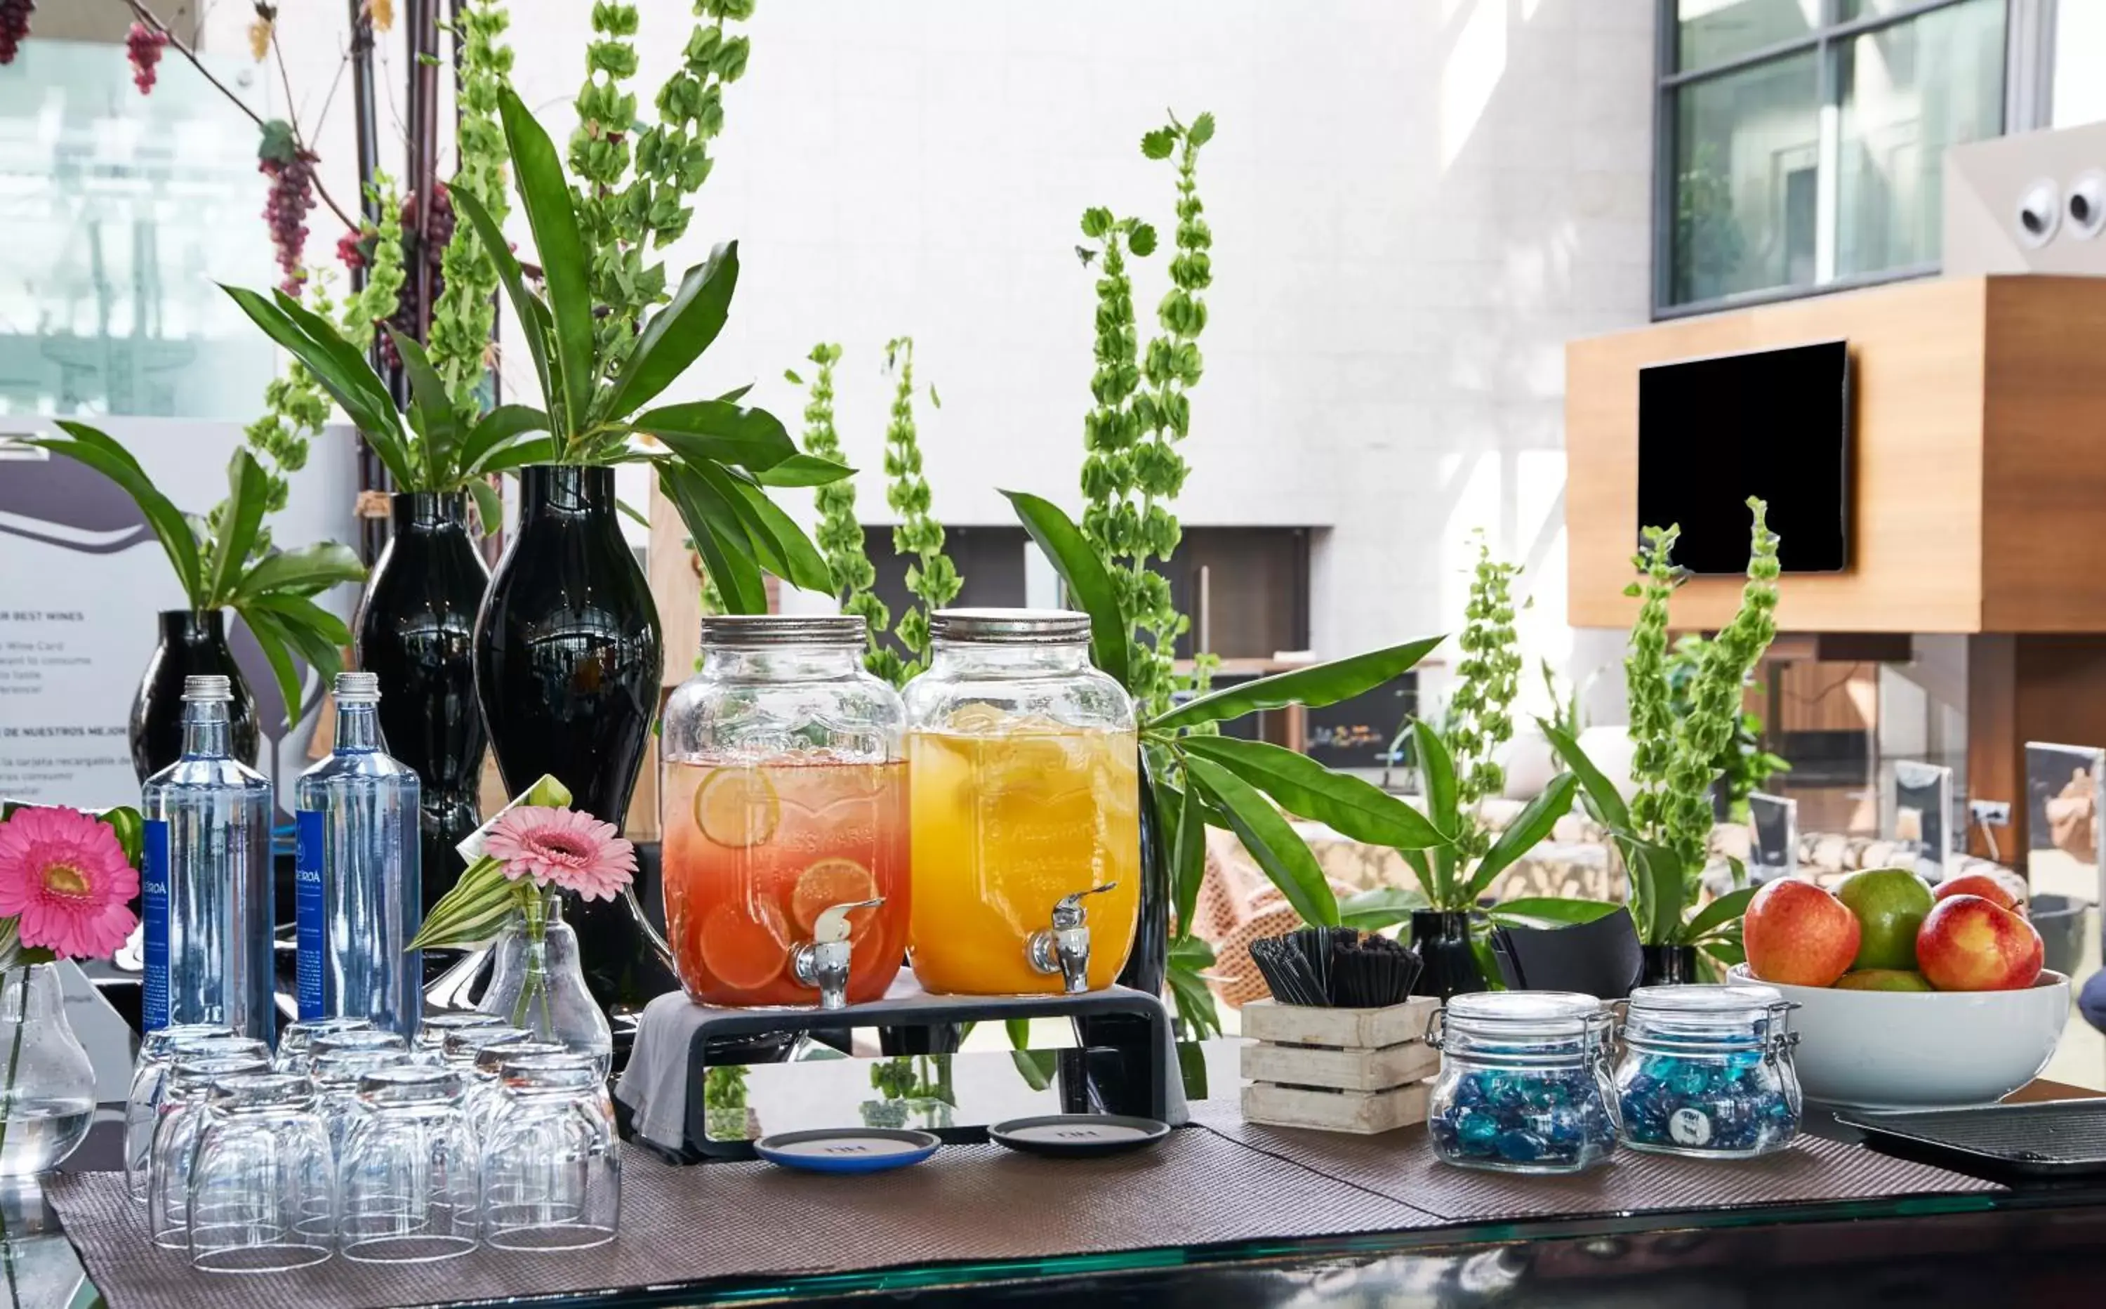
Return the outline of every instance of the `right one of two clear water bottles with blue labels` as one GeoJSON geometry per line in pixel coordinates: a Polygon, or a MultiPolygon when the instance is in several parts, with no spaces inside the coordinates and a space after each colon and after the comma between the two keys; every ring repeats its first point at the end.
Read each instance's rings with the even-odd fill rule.
{"type": "Polygon", "coordinates": [[[299,778],[299,1016],[417,1035],[423,925],[417,774],[388,757],[373,672],[337,675],[337,748],[299,778]]]}

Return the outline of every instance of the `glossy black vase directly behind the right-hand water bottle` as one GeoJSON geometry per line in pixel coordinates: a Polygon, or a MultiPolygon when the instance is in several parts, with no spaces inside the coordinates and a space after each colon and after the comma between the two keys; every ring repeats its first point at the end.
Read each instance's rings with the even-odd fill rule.
{"type": "Polygon", "coordinates": [[[423,906],[461,877],[455,849],[482,822],[482,708],[476,704],[476,609],[491,569],[468,531],[468,495],[394,497],[394,535],[358,605],[358,666],[381,679],[388,753],[417,769],[423,906]]]}

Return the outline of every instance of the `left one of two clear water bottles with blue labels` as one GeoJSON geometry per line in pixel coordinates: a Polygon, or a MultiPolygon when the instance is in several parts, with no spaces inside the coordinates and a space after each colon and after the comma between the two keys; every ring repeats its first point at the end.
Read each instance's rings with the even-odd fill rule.
{"type": "Polygon", "coordinates": [[[272,788],[227,753],[234,687],[183,679],[183,757],[145,780],[145,1029],[215,1022],[270,1041],[272,788]]]}

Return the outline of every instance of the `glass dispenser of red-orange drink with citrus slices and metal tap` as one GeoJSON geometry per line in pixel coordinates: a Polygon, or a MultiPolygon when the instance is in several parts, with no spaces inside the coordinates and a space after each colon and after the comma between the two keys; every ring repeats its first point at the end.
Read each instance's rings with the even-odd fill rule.
{"type": "Polygon", "coordinates": [[[861,618],[701,622],[665,702],[665,930],[689,997],[878,999],[906,953],[899,696],[863,670],[861,618]]]}

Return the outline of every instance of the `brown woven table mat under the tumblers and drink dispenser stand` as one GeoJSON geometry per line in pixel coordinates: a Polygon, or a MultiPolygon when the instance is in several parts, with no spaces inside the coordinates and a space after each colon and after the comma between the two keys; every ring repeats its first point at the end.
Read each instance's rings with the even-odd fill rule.
{"type": "Polygon", "coordinates": [[[1211,1132],[1110,1159],[943,1147],[916,1168],[819,1176],[771,1164],[621,1159],[621,1235],[598,1250],[476,1250],[436,1265],[331,1258],[270,1275],[196,1273],[145,1239],[145,1206],[110,1172],[61,1176],[51,1199],[112,1309],[337,1309],[632,1288],[701,1277],[1040,1258],[1436,1223],[1407,1204],[1211,1132]]]}

